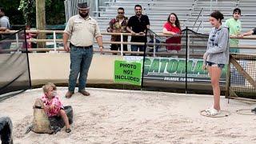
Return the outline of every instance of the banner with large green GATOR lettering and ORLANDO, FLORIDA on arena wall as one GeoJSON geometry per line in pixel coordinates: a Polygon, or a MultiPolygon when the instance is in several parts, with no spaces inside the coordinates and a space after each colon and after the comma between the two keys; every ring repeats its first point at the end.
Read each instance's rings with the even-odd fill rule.
{"type": "MultiPolygon", "coordinates": [[[[126,61],[143,62],[143,57],[126,57],[126,61]]],[[[202,69],[202,58],[190,58],[187,62],[185,58],[145,58],[144,80],[146,81],[169,81],[169,82],[210,82],[207,70],[202,69]],[[187,74],[187,79],[186,79],[187,74]]],[[[226,66],[222,70],[220,78],[221,84],[226,82],[226,66]]]]}

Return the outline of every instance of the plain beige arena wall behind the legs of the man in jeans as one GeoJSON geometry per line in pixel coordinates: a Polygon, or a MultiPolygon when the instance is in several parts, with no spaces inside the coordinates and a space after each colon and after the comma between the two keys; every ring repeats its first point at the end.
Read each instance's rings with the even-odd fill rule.
{"type": "MultiPolygon", "coordinates": [[[[68,83],[69,53],[31,53],[29,58],[32,86],[46,82],[68,83]]],[[[113,83],[114,60],[122,59],[122,56],[94,54],[87,83],[113,83]]]]}

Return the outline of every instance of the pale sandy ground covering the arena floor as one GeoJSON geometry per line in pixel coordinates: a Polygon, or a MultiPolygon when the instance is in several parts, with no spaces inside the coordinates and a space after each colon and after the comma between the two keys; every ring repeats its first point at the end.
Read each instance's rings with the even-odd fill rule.
{"type": "Polygon", "coordinates": [[[225,118],[199,114],[210,106],[210,95],[106,90],[89,88],[90,97],[76,93],[63,98],[66,88],[58,88],[65,106],[73,106],[71,133],[24,134],[32,122],[34,99],[42,90],[26,92],[0,102],[0,116],[14,123],[14,143],[256,143],[256,116],[236,114],[255,105],[222,98],[225,118]]]}

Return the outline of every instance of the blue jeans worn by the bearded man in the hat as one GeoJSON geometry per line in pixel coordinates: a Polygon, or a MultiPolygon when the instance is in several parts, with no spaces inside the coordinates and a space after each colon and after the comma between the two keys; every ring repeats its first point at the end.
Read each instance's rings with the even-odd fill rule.
{"type": "Polygon", "coordinates": [[[79,74],[78,91],[85,90],[86,79],[91,60],[93,58],[94,49],[90,46],[89,49],[78,48],[76,46],[70,47],[70,78],[69,78],[69,91],[74,92],[79,74]]]}

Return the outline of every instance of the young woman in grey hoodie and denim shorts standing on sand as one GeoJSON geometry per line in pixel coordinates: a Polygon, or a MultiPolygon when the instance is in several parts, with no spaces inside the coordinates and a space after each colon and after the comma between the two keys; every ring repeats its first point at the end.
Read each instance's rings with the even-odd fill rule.
{"type": "Polygon", "coordinates": [[[203,55],[203,68],[209,72],[214,92],[214,106],[206,109],[207,114],[212,116],[219,114],[221,110],[219,79],[222,75],[222,68],[229,60],[229,30],[222,26],[223,18],[223,14],[218,10],[210,14],[210,24],[214,27],[210,31],[207,50],[203,55]]]}

